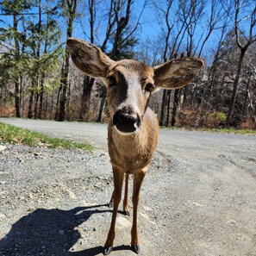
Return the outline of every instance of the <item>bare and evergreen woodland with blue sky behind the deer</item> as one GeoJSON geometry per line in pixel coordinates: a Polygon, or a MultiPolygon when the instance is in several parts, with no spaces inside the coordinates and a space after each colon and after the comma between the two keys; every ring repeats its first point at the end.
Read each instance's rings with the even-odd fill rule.
{"type": "Polygon", "coordinates": [[[153,94],[161,126],[256,128],[255,0],[0,0],[0,116],[109,121],[106,87],[73,66],[69,37],[148,66],[203,59],[193,83],[153,94]]]}

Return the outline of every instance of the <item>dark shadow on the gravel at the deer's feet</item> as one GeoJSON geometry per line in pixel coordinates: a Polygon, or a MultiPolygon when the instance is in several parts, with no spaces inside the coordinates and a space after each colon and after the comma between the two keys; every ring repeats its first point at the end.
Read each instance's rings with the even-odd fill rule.
{"type": "MultiPolygon", "coordinates": [[[[80,238],[76,227],[91,215],[109,212],[103,205],[77,207],[70,210],[36,209],[13,224],[9,234],[0,240],[0,255],[56,255],[93,256],[102,253],[103,247],[86,248],[81,252],[70,249],[80,238]]],[[[128,249],[126,246],[116,250],[128,249]]]]}

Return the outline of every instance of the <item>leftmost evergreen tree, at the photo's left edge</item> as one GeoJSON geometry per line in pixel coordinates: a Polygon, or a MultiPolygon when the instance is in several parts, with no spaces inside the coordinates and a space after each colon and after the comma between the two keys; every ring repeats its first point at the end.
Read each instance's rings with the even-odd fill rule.
{"type": "Polygon", "coordinates": [[[16,117],[21,117],[22,73],[28,62],[28,59],[23,56],[23,46],[26,41],[24,35],[24,15],[33,5],[30,0],[3,0],[0,2],[0,6],[3,15],[12,17],[12,21],[9,24],[4,24],[2,21],[3,27],[0,28],[2,32],[1,41],[3,41],[1,42],[3,47],[1,56],[2,68],[9,73],[9,75],[2,76],[1,78],[8,79],[5,82],[9,82],[11,79],[15,84],[16,117]]]}

